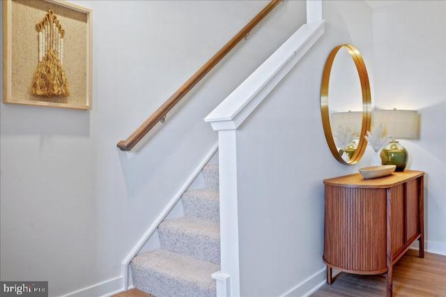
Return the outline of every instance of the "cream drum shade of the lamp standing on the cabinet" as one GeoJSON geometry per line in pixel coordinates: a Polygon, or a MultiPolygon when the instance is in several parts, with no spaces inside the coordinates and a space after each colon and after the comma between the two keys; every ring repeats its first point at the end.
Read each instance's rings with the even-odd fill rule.
{"type": "Polygon", "coordinates": [[[418,139],[420,115],[416,110],[375,110],[371,115],[373,127],[383,124],[385,135],[400,139],[418,139]]]}

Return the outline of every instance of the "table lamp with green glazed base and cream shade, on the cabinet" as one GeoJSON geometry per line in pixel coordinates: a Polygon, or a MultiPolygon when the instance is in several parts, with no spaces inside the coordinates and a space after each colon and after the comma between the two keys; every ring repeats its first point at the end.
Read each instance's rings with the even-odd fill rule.
{"type": "Polygon", "coordinates": [[[396,139],[420,138],[420,115],[415,110],[376,110],[372,114],[373,127],[383,125],[383,132],[391,138],[380,152],[383,165],[396,165],[403,172],[408,162],[408,152],[396,139]]]}

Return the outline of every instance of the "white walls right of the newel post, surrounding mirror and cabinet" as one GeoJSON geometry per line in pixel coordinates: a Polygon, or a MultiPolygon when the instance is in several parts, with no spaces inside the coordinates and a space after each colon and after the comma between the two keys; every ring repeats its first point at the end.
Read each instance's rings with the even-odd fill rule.
{"type": "Polygon", "coordinates": [[[353,43],[367,63],[378,108],[418,109],[419,140],[401,143],[409,169],[426,171],[426,248],[445,254],[446,3],[405,1],[373,12],[364,3],[326,1],[318,45],[237,132],[240,291],[299,296],[323,273],[323,178],[357,172],[325,144],[319,88],[328,52],[353,43]],[[272,157],[271,157],[272,156],[272,157]]]}

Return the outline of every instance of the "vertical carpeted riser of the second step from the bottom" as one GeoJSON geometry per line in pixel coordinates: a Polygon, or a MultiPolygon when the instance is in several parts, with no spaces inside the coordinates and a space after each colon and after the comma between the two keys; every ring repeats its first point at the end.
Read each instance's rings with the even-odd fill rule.
{"type": "Polygon", "coordinates": [[[220,238],[178,234],[159,228],[161,248],[197,259],[220,264],[220,238]]]}

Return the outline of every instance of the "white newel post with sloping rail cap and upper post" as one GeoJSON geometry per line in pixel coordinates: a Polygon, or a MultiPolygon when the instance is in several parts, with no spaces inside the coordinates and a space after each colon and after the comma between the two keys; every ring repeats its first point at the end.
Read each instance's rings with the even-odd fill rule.
{"type": "Polygon", "coordinates": [[[323,35],[322,1],[307,1],[307,24],[286,40],[252,75],[211,112],[206,122],[218,131],[220,167],[221,271],[213,273],[217,296],[240,296],[238,243],[237,128],[323,35]]]}

